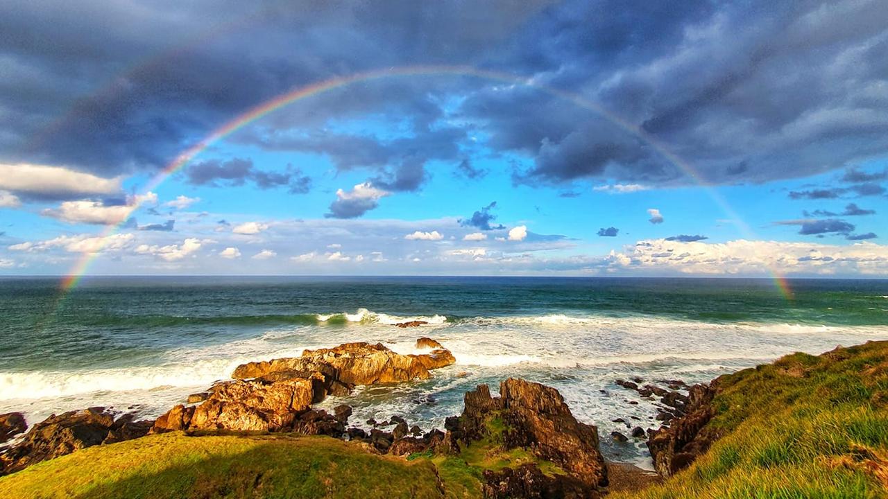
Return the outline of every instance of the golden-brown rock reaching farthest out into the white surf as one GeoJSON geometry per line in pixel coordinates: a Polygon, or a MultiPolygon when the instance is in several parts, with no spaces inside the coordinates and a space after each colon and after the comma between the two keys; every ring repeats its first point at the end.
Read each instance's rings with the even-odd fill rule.
{"type": "Polygon", "coordinates": [[[338,382],[346,386],[356,384],[395,383],[430,377],[430,368],[450,365],[456,360],[447,350],[435,350],[422,355],[401,355],[385,345],[346,343],[334,348],[305,350],[302,357],[249,362],[234,369],[236,379],[268,376],[288,372],[288,376],[320,373],[324,384],[338,382]]]}

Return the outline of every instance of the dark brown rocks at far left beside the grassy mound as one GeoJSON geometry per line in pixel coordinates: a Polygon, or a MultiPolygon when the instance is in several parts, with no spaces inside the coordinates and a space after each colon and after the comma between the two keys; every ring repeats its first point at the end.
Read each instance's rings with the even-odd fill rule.
{"type": "Polygon", "coordinates": [[[66,455],[81,448],[144,436],[151,422],[124,415],[115,421],[104,408],[88,408],[52,415],[35,424],[24,439],[0,454],[0,474],[66,455]]]}

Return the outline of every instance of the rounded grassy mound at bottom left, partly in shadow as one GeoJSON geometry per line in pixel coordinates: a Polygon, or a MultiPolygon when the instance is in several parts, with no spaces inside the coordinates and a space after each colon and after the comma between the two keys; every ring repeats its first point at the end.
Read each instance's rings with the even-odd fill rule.
{"type": "Polygon", "coordinates": [[[326,437],[180,432],[87,448],[0,479],[16,498],[442,497],[432,463],[326,437]]]}

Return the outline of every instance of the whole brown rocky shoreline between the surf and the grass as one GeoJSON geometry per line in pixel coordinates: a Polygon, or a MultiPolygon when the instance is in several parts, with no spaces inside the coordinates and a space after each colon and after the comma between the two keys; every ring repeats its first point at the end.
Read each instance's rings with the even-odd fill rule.
{"type": "MultiPolygon", "coordinates": [[[[432,376],[431,370],[456,361],[432,338],[419,338],[416,348],[430,352],[402,355],[382,344],[351,343],[305,350],[300,357],[249,362],[234,369],[231,380],[194,393],[186,404],[170,408],[154,421],[87,408],[50,416],[26,432],[20,413],[2,415],[0,443],[15,440],[0,452],[0,475],[82,448],[183,431],[325,435],[373,453],[405,457],[459,456],[478,449],[489,455],[518,455],[515,465],[483,472],[483,493],[495,498],[599,497],[608,491],[609,468],[617,470],[620,489],[654,481],[650,473],[630,466],[608,466],[599,451],[598,429],[578,422],[557,390],[521,379],[504,380],[499,397],[493,397],[484,384],[466,392],[463,413],[448,417],[444,431],[424,432],[400,416],[384,422],[369,420],[368,431],[349,426],[349,406],[337,406],[332,413],[312,407],[358,385],[425,379],[432,376]]],[[[666,477],[708,447],[710,440],[700,439],[698,432],[711,416],[707,404],[713,389],[689,387],[678,380],[665,381],[667,388],[643,382],[615,380],[639,397],[658,399],[661,409],[655,419],[662,426],[644,429],[640,422],[618,418],[614,422],[626,424],[630,436],[613,432],[611,438],[647,440],[655,469],[666,477]]]]}

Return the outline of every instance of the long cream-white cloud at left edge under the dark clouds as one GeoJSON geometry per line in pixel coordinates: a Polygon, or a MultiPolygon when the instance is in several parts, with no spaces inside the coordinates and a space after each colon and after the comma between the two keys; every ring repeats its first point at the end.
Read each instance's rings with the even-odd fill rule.
{"type": "Polygon", "coordinates": [[[36,195],[118,194],[122,177],[101,178],[58,166],[0,163],[0,189],[36,195]]]}

